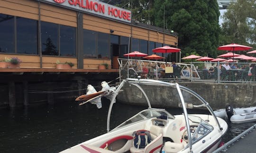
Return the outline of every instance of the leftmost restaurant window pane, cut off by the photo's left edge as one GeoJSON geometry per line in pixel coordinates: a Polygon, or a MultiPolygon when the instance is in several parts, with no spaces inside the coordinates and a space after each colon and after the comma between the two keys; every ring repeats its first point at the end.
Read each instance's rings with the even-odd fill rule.
{"type": "Polygon", "coordinates": [[[14,52],[14,17],[0,14],[0,52],[14,52]]]}

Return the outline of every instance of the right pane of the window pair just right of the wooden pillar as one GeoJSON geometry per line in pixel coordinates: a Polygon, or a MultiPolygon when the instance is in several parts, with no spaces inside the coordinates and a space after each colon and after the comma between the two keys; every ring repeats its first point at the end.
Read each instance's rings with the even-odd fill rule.
{"type": "Polygon", "coordinates": [[[110,57],[109,34],[98,33],[98,58],[105,59],[110,57]]]}

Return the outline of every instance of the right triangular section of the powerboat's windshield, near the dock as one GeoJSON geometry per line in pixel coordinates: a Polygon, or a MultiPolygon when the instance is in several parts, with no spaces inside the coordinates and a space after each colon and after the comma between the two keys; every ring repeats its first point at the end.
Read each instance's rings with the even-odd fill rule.
{"type": "Polygon", "coordinates": [[[199,141],[213,130],[213,127],[200,117],[188,115],[190,120],[190,132],[192,133],[192,144],[199,141]]]}

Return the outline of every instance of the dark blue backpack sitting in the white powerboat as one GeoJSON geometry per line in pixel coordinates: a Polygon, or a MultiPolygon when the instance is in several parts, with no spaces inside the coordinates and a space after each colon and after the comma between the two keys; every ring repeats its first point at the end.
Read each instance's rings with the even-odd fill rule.
{"type": "Polygon", "coordinates": [[[134,131],[132,136],[134,136],[134,147],[137,149],[145,148],[151,141],[150,132],[147,130],[134,131]]]}

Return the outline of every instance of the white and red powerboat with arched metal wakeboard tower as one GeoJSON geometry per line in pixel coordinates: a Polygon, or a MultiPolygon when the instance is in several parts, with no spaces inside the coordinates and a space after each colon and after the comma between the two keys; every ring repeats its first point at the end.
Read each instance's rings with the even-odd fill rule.
{"type": "Polygon", "coordinates": [[[211,153],[218,147],[228,129],[227,123],[215,116],[201,96],[177,83],[129,78],[123,80],[112,92],[113,99],[110,102],[107,119],[108,133],[77,144],[61,153],[211,153]],[[112,106],[124,85],[136,86],[144,94],[148,109],[140,111],[110,130],[112,106]],[[151,108],[143,85],[175,88],[180,96],[179,106],[183,108],[183,114],[171,115],[165,109],[151,108]],[[197,97],[201,104],[184,102],[182,91],[197,97]],[[187,108],[194,107],[206,107],[211,115],[188,114],[187,108]]]}

